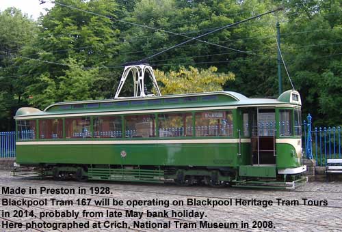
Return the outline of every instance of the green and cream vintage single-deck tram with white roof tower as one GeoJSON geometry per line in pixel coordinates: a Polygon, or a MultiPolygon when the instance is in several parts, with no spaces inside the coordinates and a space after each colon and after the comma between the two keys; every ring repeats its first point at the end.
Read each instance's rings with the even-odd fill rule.
{"type": "Polygon", "coordinates": [[[55,179],[295,188],[306,182],[301,104],[295,90],[161,96],[150,66],[127,66],[114,99],[19,108],[16,163],[55,179]],[[129,74],[134,96],[120,97],[129,74]]]}

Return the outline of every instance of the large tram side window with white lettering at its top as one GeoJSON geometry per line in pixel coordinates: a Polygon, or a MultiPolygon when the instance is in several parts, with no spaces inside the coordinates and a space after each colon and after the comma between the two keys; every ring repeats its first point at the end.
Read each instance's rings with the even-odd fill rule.
{"type": "Polygon", "coordinates": [[[196,136],[233,136],[231,111],[205,111],[196,113],[196,136]]]}

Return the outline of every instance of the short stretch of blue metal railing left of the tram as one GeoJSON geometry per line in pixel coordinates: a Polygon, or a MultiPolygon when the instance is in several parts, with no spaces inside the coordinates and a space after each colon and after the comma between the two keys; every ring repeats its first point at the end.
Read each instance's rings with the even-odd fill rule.
{"type": "Polygon", "coordinates": [[[0,132],[0,158],[16,156],[16,132],[0,132]]]}

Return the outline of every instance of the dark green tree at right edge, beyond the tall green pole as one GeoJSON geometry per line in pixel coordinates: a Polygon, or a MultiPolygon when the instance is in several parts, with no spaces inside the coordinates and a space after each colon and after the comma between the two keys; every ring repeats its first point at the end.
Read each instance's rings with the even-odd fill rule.
{"type": "Polygon", "coordinates": [[[296,0],[289,7],[282,47],[304,115],[311,113],[317,126],[341,124],[342,3],[296,0]]]}

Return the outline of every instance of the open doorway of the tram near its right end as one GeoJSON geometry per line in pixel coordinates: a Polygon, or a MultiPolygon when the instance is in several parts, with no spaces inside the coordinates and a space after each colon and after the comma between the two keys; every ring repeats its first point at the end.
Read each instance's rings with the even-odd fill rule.
{"type": "Polygon", "coordinates": [[[254,108],[251,114],[252,164],[276,164],[276,111],[254,108]]]}

